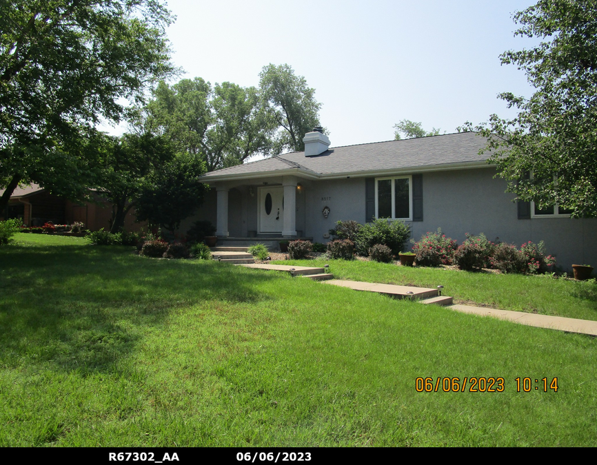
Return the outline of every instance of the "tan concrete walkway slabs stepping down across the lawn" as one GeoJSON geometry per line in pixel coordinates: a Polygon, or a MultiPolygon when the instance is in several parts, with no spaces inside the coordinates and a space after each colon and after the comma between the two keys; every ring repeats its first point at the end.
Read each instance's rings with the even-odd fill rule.
{"type": "MultiPolygon", "coordinates": [[[[309,267],[291,267],[288,265],[240,265],[245,267],[257,269],[270,269],[275,271],[288,272],[291,268],[298,271],[301,269],[310,269],[309,267]]],[[[321,269],[318,269],[319,271],[321,269]]],[[[304,271],[303,271],[304,272],[304,271]]],[[[321,272],[321,271],[320,271],[321,272]]],[[[298,274],[301,274],[299,271],[298,274]]],[[[425,289],[423,287],[410,286],[396,286],[383,285],[375,282],[349,281],[349,280],[327,280],[326,284],[348,287],[355,291],[367,291],[382,293],[386,296],[394,298],[410,298],[421,303],[436,303],[434,300],[438,299],[437,289],[425,289]]],[[[443,297],[442,297],[443,298],[443,297]]],[[[492,318],[499,318],[500,320],[508,320],[520,324],[527,324],[538,328],[557,329],[558,331],[566,331],[567,333],[579,333],[597,336],[597,321],[592,320],[577,320],[576,318],[564,318],[562,316],[548,316],[538,315],[536,313],[527,313],[524,311],[499,310],[489,307],[474,307],[472,305],[451,304],[452,298],[449,299],[450,304],[444,304],[446,309],[454,311],[461,311],[463,313],[472,313],[479,316],[490,316],[492,318]]],[[[437,302],[441,304],[441,302],[437,302]]]]}

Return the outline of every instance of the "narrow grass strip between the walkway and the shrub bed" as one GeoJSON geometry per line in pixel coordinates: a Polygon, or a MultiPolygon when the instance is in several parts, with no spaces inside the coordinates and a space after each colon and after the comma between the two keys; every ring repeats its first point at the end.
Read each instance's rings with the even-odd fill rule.
{"type": "Polygon", "coordinates": [[[429,267],[398,267],[361,260],[285,260],[284,265],[330,265],[334,278],[383,284],[432,287],[455,303],[481,304],[504,310],[597,320],[596,280],[574,281],[549,275],[478,273],[429,267]]]}

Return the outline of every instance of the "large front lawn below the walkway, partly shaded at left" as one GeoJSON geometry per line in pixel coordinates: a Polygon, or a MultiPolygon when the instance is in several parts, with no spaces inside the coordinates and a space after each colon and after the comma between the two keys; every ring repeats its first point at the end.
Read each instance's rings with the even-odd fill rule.
{"type": "Polygon", "coordinates": [[[597,445],[594,338],[17,239],[0,247],[0,446],[597,445]],[[415,389],[465,376],[505,390],[415,389]],[[518,377],[559,389],[517,393],[518,377]]]}

